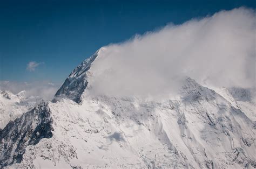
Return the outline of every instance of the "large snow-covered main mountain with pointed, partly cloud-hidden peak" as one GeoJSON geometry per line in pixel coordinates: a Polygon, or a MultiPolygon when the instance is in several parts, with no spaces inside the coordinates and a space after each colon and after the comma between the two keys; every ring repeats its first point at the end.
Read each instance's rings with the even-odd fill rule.
{"type": "Polygon", "coordinates": [[[1,167],[256,167],[254,90],[185,78],[178,94],[163,100],[91,95],[99,54],[69,75],[52,102],[0,131],[1,167]]]}

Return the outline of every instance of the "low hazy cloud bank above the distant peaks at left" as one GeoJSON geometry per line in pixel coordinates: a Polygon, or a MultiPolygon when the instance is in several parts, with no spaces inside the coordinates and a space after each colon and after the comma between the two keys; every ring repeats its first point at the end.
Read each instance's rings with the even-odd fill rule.
{"type": "Polygon", "coordinates": [[[53,95],[60,87],[59,84],[53,84],[47,81],[38,82],[10,82],[0,81],[0,90],[8,90],[14,94],[19,93],[22,90],[26,91],[26,96],[39,96],[44,100],[52,100],[53,95]]]}

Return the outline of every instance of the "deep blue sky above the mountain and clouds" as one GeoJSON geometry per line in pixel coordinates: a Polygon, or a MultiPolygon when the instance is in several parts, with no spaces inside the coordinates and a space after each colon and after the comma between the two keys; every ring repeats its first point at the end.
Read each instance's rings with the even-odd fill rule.
{"type": "Polygon", "coordinates": [[[255,2],[0,0],[0,80],[63,82],[104,45],[255,2]]]}

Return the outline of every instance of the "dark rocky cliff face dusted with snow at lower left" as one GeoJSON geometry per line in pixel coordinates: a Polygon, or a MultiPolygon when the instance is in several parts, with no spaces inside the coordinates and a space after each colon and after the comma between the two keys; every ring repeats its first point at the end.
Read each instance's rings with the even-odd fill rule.
{"type": "Polygon", "coordinates": [[[36,145],[42,138],[52,137],[52,119],[48,103],[36,105],[0,131],[0,165],[21,163],[25,149],[36,145]]]}

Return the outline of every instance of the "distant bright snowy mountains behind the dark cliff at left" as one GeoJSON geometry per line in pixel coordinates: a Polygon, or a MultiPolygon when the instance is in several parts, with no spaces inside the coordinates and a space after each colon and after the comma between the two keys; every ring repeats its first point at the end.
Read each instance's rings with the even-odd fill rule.
{"type": "Polygon", "coordinates": [[[24,112],[31,110],[40,99],[26,96],[26,91],[13,94],[11,91],[0,90],[0,129],[3,129],[9,121],[14,121],[24,112]]]}

